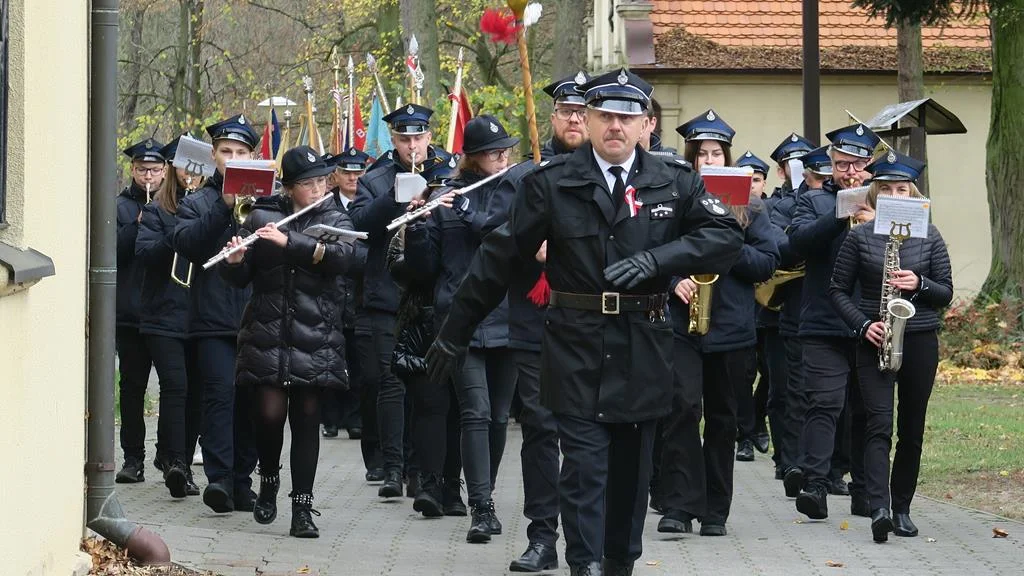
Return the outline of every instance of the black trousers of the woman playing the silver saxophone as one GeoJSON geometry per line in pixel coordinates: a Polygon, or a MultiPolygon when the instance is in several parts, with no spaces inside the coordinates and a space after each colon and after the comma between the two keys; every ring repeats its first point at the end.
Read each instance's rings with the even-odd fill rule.
{"type": "Polygon", "coordinates": [[[879,371],[874,345],[864,341],[857,352],[857,381],[866,420],[864,490],[872,510],[890,507],[891,494],[893,512],[908,513],[918,489],[925,416],[939,364],[938,337],[934,330],[904,334],[903,366],[895,375],[879,371]],[[899,399],[896,420],[899,441],[890,477],[894,388],[899,399]]]}

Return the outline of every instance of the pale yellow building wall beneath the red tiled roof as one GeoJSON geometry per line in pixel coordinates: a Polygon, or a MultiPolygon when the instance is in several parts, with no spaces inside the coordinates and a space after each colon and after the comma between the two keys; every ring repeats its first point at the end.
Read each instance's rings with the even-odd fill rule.
{"type": "MultiPolygon", "coordinates": [[[[643,73],[641,72],[641,75],[643,73]]],[[[736,129],[733,156],[750,149],[769,155],[790,132],[803,132],[799,75],[650,75],[662,105],[663,139],[682,150],[675,127],[709,108],[736,129]]],[[[949,246],[958,297],[976,293],[988,274],[991,243],[985,193],[985,140],[991,84],[979,78],[933,78],[926,95],[955,114],[966,134],[929,136],[932,217],[949,246]]],[[[821,79],[820,141],[824,133],[851,124],[845,110],[867,121],[897,101],[895,75],[824,76],[821,79]]],[[[778,186],[769,174],[769,189],[778,186]]]]}

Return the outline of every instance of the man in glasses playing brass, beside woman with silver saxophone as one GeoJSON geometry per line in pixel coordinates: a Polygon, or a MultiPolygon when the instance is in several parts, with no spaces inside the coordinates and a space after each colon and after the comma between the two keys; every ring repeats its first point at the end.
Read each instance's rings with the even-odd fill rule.
{"type": "MultiPolygon", "coordinates": [[[[863,415],[856,382],[856,332],[851,330],[833,307],[827,289],[840,246],[850,230],[851,220],[836,217],[836,196],[840,190],[862,186],[869,177],[864,167],[870,162],[880,139],[863,124],[840,128],[825,134],[831,146],[831,178],[821,190],[809,191],[797,201],[790,245],[806,258],[803,301],[798,335],[803,343],[804,390],[807,413],[799,446],[803,454],[796,467],[783,479],[786,493],[797,496],[797,510],[808,518],[828,518],[826,498],[835,478],[842,478],[843,463],[834,458],[837,439],[845,434],[842,418],[849,398],[851,410],[850,513],[870,517],[863,494],[863,415]]],[[[867,207],[854,219],[862,221],[867,207]]],[[[842,459],[842,458],[841,458],[842,459]]]]}

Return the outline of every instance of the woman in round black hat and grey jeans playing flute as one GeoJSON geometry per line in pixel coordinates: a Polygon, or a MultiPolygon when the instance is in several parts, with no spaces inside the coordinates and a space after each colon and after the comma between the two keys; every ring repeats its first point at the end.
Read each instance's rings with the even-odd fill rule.
{"type": "MultiPolygon", "coordinates": [[[[478,116],[469,121],[464,133],[465,156],[458,175],[451,182],[452,188],[472,184],[504,169],[508,166],[512,147],[518,141],[509,136],[493,116],[478,116]]],[[[453,294],[480,245],[482,208],[497,183],[462,196],[456,196],[451,190],[438,191],[435,196],[444,199],[445,207],[434,212],[426,222],[419,222],[407,231],[407,257],[420,266],[424,279],[436,279],[434,320],[437,325],[447,316],[453,294]]],[[[466,536],[469,542],[487,542],[492,535],[502,533],[490,492],[505,450],[509,407],[515,392],[515,365],[508,349],[508,303],[503,302],[477,327],[462,372],[455,377],[462,414],[463,466],[473,517],[466,536]]],[[[420,402],[420,396],[447,404],[443,400],[446,385],[445,382],[432,382],[431,386],[438,389],[418,395],[416,411],[420,414],[417,418],[424,417],[423,411],[428,409],[420,402]]],[[[437,474],[444,458],[443,453],[438,453],[444,446],[443,428],[436,435],[430,447],[424,451],[417,449],[424,470],[421,491],[425,493],[423,498],[417,498],[418,501],[436,498],[439,494],[437,474]]]]}

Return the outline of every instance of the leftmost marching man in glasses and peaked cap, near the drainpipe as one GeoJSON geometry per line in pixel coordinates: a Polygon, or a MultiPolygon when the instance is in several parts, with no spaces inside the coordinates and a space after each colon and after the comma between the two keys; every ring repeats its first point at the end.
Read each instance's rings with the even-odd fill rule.
{"type": "Polygon", "coordinates": [[[123,152],[131,159],[131,183],[118,195],[117,331],[118,371],[121,386],[121,450],[124,466],[115,481],[133,484],[145,480],[145,422],[142,409],[153,359],[139,336],[142,266],[135,262],[135,237],[145,206],[164,181],[164,145],[153,138],[136,142],[123,152]]]}

